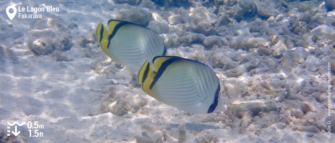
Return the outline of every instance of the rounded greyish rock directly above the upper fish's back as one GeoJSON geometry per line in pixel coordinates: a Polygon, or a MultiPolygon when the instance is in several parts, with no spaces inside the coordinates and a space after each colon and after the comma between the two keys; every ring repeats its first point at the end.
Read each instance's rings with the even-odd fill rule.
{"type": "Polygon", "coordinates": [[[134,8],[131,10],[122,9],[115,16],[117,20],[129,21],[140,25],[146,25],[152,20],[152,14],[150,11],[144,8],[134,8]]]}

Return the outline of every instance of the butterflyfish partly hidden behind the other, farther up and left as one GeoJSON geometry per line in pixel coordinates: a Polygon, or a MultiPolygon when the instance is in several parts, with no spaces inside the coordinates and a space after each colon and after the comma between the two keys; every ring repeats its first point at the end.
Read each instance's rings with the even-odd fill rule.
{"type": "MultiPolygon", "coordinates": [[[[97,42],[114,61],[139,71],[145,61],[164,56],[162,38],[151,29],[128,21],[110,19],[108,29],[100,22],[96,28],[97,42]]],[[[152,64],[150,62],[150,64],[152,64]]]]}

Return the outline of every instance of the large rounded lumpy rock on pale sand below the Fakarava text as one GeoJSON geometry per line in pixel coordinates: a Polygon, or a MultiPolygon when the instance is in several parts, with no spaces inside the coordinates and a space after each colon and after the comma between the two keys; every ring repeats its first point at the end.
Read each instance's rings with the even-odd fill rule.
{"type": "Polygon", "coordinates": [[[28,48],[35,55],[48,55],[72,47],[69,28],[59,18],[38,19],[29,28],[28,48]]]}

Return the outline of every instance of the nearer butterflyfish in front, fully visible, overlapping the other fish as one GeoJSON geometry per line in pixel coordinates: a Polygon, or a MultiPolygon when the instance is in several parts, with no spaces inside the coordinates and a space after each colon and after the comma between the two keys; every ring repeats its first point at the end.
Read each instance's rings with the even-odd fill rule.
{"type": "Polygon", "coordinates": [[[176,56],[157,56],[152,63],[157,72],[146,61],[137,78],[153,98],[192,114],[226,110],[218,103],[219,79],[205,64],[176,56]]]}

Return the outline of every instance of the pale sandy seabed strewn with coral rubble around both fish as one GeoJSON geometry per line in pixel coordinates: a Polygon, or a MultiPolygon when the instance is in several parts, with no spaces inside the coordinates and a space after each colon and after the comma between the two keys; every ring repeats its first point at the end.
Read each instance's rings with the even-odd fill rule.
{"type": "Polygon", "coordinates": [[[0,142],[335,142],[332,0],[0,4],[0,142]],[[59,11],[10,20],[9,5],[59,11]],[[167,56],[212,68],[228,110],[192,115],[146,95],[96,43],[109,19],[144,25],[167,56]],[[7,122],[25,124],[15,137],[7,122]]]}

